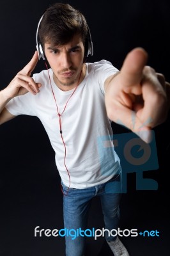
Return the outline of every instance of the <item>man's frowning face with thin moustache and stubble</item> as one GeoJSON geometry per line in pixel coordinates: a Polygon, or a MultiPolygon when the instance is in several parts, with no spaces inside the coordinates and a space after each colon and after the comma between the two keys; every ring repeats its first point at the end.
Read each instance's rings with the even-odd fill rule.
{"type": "Polygon", "coordinates": [[[80,35],[62,46],[45,43],[45,56],[53,71],[54,82],[61,90],[72,90],[84,78],[84,45],[80,35]],[[81,79],[80,74],[82,70],[81,79]]]}

